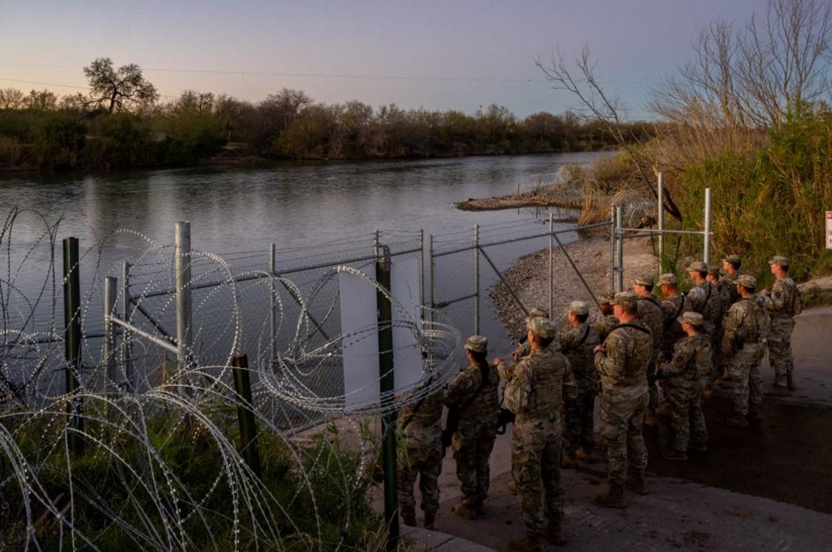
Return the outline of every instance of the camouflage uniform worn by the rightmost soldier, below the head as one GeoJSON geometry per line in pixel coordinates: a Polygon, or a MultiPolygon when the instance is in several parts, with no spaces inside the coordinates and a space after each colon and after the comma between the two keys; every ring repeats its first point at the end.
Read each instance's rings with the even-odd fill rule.
{"type": "Polygon", "coordinates": [[[777,278],[771,294],[765,299],[771,316],[771,335],[768,337],[769,363],[775,369],[775,385],[785,387],[795,370],[791,352],[791,332],[795,330],[793,316],[800,314],[800,291],[789,276],[777,278]]]}

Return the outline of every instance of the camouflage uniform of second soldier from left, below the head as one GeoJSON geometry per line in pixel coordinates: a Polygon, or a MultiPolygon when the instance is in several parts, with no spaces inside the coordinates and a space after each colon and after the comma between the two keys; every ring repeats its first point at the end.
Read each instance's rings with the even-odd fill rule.
{"type": "MultiPolygon", "coordinates": [[[[459,488],[463,505],[482,505],[488,495],[488,458],[494,448],[497,431],[500,378],[497,368],[488,366],[488,383],[465,410],[459,413],[459,426],[453,434],[453,458],[457,461],[459,488]]],[[[445,405],[459,408],[476,394],[482,384],[480,366],[469,365],[460,370],[445,390],[445,405]]]]}

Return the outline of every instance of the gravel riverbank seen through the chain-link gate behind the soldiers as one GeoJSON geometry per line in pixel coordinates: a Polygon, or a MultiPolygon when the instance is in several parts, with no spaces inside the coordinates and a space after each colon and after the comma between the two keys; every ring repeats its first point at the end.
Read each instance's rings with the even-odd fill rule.
{"type": "MultiPolygon", "coordinates": [[[[598,297],[610,289],[610,241],[607,236],[585,238],[566,244],[565,248],[572,261],[581,271],[592,295],[598,297]]],[[[572,301],[587,301],[592,307],[592,296],[583,286],[581,279],[572,270],[567,257],[560,248],[553,255],[554,275],[552,287],[552,320],[566,321],[566,309],[572,301]]],[[[630,286],[638,274],[656,272],[656,260],[652,253],[650,238],[633,238],[624,245],[624,287],[630,286]]],[[[504,275],[523,306],[548,308],[549,305],[549,254],[548,250],[537,251],[521,257],[504,275]]],[[[509,335],[523,334],[524,314],[518,309],[511,293],[503,283],[489,293],[500,320],[509,335]]],[[[590,321],[601,318],[597,309],[590,309],[590,321]]]]}

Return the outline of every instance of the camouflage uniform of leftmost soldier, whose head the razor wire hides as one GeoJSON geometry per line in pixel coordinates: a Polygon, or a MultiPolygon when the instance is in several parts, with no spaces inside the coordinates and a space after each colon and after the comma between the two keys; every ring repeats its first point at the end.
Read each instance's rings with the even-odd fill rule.
{"type": "Polygon", "coordinates": [[[399,455],[399,513],[415,515],[414,484],[419,478],[421,508],[425,514],[439,510],[439,474],[442,473],[442,391],[405,406],[399,414],[407,456],[399,455]],[[418,410],[417,410],[418,409],[418,410]]]}

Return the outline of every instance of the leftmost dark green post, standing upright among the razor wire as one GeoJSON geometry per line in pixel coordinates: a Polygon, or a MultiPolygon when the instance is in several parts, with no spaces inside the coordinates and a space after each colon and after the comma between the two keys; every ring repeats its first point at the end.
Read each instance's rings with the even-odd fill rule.
{"type": "Polygon", "coordinates": [[[81,278],[78,271],[78,238],[63,240],[63,326],[64,357],[67,359],[67,422],[72,431],[69,434],[69,448],[81,453],[84,441],[79,432],[84,430],[81,416],[81,399],[73,395],[81,387],[77,373],[81,368],[81,278]]]}

